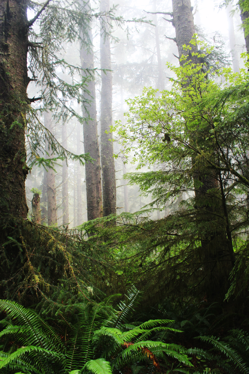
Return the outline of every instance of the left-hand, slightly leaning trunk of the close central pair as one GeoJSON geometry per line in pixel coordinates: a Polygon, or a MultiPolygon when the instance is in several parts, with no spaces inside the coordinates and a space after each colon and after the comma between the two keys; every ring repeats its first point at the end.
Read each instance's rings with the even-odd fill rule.
{"type": "MultiPolygon", "coordinates": [[[[89,30],[90,40],[93,40],[92,30],[89,30]]],[[[93,47],[93,45],[91,45],[93,47]]],[[[94,69],[94,53],[82,45],[80,47],[80,58],[82,69],[94,69]]],[[[101,189],[101,166],[100,151],[97,130],[96,95],[94,78],[82,70],[82,79],[88,79],[89,94],[85,94],[86,109],[83,108],[83,116],[86,120],[83,124],[84,152],[88,153],[95,161],[86,163],[86,188],[87,188],[87,218],[88,220],[102,216],[102,189],[101,189]],[[88,77],[88,78],[87,78],[88,77]]]]}

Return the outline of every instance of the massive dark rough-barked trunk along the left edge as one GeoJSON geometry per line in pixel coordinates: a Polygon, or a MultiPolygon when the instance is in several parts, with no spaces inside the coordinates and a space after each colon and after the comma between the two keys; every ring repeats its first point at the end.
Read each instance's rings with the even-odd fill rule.
{"type": "Polygon", "coordinates": [[[0,2],[0,211],[27,217],[27,1],[0,2]]]}

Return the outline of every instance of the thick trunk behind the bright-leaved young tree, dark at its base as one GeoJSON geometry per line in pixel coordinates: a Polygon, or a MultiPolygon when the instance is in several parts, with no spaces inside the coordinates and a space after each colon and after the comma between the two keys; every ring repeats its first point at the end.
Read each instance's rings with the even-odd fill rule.
{"type": "MultiPolygon", "coordinates": [[[[172,0],[173,6],[173,24],[176,31],[176,43],[178,47],[179,57],[182,54],[188,54],[188,60],[194,63],[198,62],[198,58],[194,57],[189,51],[183,49],[183,45],[189,45],[193,38],[194,19],[192,14],[192,7],[190,0],[172,0]]],[[[192,47],[192,51],[197,51],[197,45],[192,47]]],[[[184,64],[185,61],[180,62],[184,64]]],[[[196,136],[191,134],[194,139],[196,136]]],[[[197,135],[195,141],[202,142],[205,134],[197,135]]],[[[192,160],[193,167],[195,166],[195,160],[192,160]]],[[[194,175],[195,185],[195,200],[196,209],[202,213],[206,211],[204,218],[200,218],[203,224],[203,219],[206,220],[207,231],[200,233],[201,238],[201,253],[199,254],[202,262],[204,277],[203,277],[203,289],[205,290],[210,300],[224,298],[226,291],[228,290],[228,278],[229,273],[232,270],[232,264],[234,261],[233,253],[231,252],[231,244],[228,243],[229,238],[226,238],[225,230],[217,232],[217,230],[208,229],[208,227],[214,226],[213,220],[215,215],[212,213],[217,211],[216,209],[222,209],[221,199],[215,194],[209,192],[210,190],[218,190],[219,181],[216,172],[200,171],[196,168],[194,175]],[[200,186],[200,182],[202,185],[200,186]]],[[[225,215],[225,212],[224,212],[225,215]]],[[[198,218],[197,218],[198,219],[198,218]]],[[[205,226],[204,225],[204,226],[205,226]]],[[[232,245],[233,248],[233,245],[232,245]]]]}

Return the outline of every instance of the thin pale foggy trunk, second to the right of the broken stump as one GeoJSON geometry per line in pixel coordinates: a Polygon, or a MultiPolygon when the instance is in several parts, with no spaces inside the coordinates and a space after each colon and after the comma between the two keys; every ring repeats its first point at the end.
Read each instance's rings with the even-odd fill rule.
{"type": "MultiPolygon", "coordinates": [[[[67,149],[67,125],[64,123],[61,129],[62,146],[67,149]]],[[[62,162],[62,224],[69,224],[68,203],[68,166],[66,160],[62,162]]]]}

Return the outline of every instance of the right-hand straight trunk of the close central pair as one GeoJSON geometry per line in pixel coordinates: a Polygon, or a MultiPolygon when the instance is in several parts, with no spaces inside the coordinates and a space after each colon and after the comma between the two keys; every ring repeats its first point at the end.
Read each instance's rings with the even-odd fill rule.
{"type": "MultiPolygon", "coordinates": [[[[109,11],[110,1],[100,1],[100,11],[109,11]]],[[[106,31],[109,32],[106,22],[106,31]]],[[[110,37],[101,29],[100,37],[100,61],[101,69],[112,69],[110,37]]],[[[110,133],[112,126],[112,72],[101,71],[101,166],[102,166],[102,186],[103,186],[103,215],[116,214],[116,175],[113,157],[113,136],[110,133]]]]}

